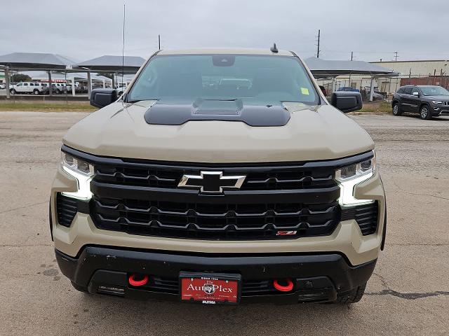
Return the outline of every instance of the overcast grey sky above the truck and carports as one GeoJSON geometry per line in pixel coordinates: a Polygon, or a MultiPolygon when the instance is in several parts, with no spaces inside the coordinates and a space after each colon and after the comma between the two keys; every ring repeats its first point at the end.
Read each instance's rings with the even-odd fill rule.
{"type": "MultiPolygon", "coordinates": [[[[324,59],[448,59],[448,0],[126,0],[126,55],[201,47],[281,49],[324,59]]],[[[121,55],[123,0],[1,0],[0,55],[121,55]]]]}

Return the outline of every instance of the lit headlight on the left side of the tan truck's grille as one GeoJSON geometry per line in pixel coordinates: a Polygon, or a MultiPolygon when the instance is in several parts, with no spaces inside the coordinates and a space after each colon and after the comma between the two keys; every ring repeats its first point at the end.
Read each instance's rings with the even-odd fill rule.
{"type": "Polygon", "coordinates": [[[63,192],[62,195],[79,200],[90,200],[92,197],[91,180],[94,174],[93,165],[64,152],[61,153],[61,165],[62,169],[78,182],[78,191],[63,192]]]}

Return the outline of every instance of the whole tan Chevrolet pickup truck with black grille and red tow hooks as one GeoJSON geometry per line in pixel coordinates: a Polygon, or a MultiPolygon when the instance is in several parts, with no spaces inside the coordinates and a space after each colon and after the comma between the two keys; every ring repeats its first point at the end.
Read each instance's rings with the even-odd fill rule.
{"type": "Polygon", "coordinates": [[[91,104],[102,109],[63,138],[50,200],[74,288],[203,304],[361,299],[386,210],[373,140],[342,113],[361,108],[359,92],[329,104],[276,48],[162,50],[119,99],[98,89],[91,104]]]}

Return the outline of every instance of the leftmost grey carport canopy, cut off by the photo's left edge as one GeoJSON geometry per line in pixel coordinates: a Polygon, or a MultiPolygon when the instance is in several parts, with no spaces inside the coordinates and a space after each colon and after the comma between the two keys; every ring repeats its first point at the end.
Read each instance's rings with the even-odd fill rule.
{"type": "Polygon", "coordinates": [[[0,64],[26,69],[67,69],[75,62],[62,55],[41,52],[13,52],[0,56],[0,64]]]}

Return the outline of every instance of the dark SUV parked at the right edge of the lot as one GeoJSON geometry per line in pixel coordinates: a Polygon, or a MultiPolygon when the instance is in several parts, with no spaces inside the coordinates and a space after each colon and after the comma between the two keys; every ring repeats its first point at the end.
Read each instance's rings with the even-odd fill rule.
{"type": "Polygon", "coordinates": [[[438,85],[399,87],[391,101],[394,116],[403,112],[420,113],[421,119],[449,114],[449,91],[438,85]]]}

